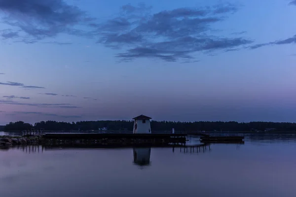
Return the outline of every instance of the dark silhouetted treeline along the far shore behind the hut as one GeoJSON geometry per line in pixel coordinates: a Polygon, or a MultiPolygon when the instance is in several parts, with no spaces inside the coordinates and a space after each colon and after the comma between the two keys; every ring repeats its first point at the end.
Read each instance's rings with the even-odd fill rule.
{"type": "MultiPolygon", "coordinates": [[[[31,128],[46,131],[87,131],[103,128],[109,131],[132,131],[133,121],[80,121],[76,123],[41,121],[34,125],[19,121],[5,125],[4,131],[22,131],[31,128]]],[[[152,131],[172,131],[173,128],[175,131],[296,131],[296,123],[151,121],[152,131]]]]}

